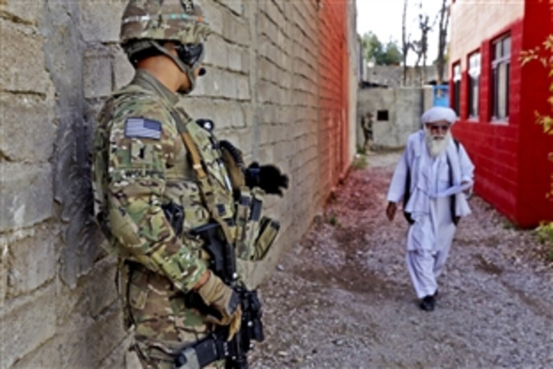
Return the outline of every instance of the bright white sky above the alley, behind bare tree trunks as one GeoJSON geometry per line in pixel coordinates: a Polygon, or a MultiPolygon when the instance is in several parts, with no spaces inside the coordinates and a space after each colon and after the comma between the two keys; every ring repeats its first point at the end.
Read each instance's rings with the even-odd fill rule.
{"type": "MultiPolygon", "coordinates": [[[[401,48],[401,16],[403,14],[403,0],[357,0],[357,33],[363,35],[372,31],[380,42],[386,44],[390,39],[398,42],[401,48]]],[[[407,34],[411,34],[411,40],[420,38],[418,26],[418,6],[421,0],[408,0],[407,4],[407,34]]],[[[440,11],[441,0],[424,0],[422,10],[430,16],[430,24],[440,11]]],[[[428,34],[429,50],[426,64],[431,64],[437,57],[438,49],[438,22],[428,34]]],[[[414,65],[416,55],[413,50],[407,54],[407,64],[414,65]]]]}

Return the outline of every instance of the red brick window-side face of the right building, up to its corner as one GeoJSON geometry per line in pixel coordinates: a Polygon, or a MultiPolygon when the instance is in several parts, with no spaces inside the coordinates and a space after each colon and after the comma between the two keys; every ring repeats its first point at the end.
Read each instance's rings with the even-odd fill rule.
{"type": "MultiPolygon", "coordinates": [[[[453,32],[461,32],[455,29],[453,32]]],[[[467,32],[464,29],[464,32],[467,32]]],[[[478,120],[468,119],[468,74],[462,71],[461,76],[461,120],[453,126],[453,134],[467,148],[476,166],[476,184],[474,189],[479,196],[491,202],[499,211],[515,218],[518,191],[518,152],[519,152],[519,121],[520,93],[511,89],[509,98],[508,122],[492,121],[492,41],[494,38],[510,32],[512,40],[512,58],[510,82],[520,83],[520,62],[516,55],[521,50],[522,28],[520,20],[515,23],[503,24],[497,28],[492,38],[481,39],[479,50],[482,56],[480,75],[478,120]]],[[[468,53],[463,58],[466,63],[468,53]]],[[[466,64],[465,64],[466,65],[466,64]]]]}

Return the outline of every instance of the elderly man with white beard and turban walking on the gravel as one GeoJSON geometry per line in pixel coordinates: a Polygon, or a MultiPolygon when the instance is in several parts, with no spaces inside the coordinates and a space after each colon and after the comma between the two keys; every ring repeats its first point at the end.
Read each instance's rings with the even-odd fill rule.
{"type": "Polygon", "coordinates": [[[420,308],[434,310],[436,278],[444,269],[457,221],[471,211],[466,193],[474,165],[460,142],[451,136],[456,114],[432,107],[421,117],[424,127],[409,136],[388,191],[386,216],[394,219],[397,203],[410,223],[407,265],[420,308]]]}

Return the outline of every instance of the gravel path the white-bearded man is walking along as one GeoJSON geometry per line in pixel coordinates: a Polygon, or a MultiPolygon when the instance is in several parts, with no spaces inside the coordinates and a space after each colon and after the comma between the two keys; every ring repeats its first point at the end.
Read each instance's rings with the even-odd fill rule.
{"type": "Polygon", "coordinates": [[[261,286],[266,340],[252,368],[553,368],[553,264],[478,197],[462,219],[436,310],[405,265],[406,222],[384,216],[398,153],[353,170],[261,286]]]}

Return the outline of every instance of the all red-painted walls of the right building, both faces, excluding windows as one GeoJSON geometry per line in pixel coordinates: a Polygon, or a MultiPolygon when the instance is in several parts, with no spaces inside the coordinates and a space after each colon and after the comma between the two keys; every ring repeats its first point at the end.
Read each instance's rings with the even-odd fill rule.
{"type": "MultiPolygon", "coordinates": [[[[553,201],[545,197],[553,171],[553,163],[547,160],[547,152],[553,151],[553,137],[542,134],[534,122],[536,109],[551,111],[546,103],[549,82],[545,68],[538,64],[523,67],[519,55],[551,32],[551,13],[547,2],[532,0],[526,1],[524,13],[523,18],[480,43],[478,120],[468,120],[468,74],[466,68],[462,71],[461,114],[453,134],[466,146],[476,165],[475,192],[519,226],[533,227],[540,221],[553,220],[553,201]],[[492,42],[507,32],[512,43],[509,119],[498,123],[491,121],[492,42]]],[[[470,33],[471,29],[461,25],[452,32],[470,33]]],[[[474,50],[463,51],[463,57],[468,58],[474,50]]],[[[467,59],[464,64],[468,64],[467,59]]],[[[452,84],[450,81],[451,89],[452,84]]]]}

